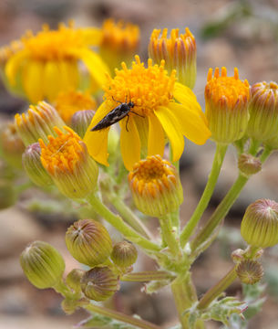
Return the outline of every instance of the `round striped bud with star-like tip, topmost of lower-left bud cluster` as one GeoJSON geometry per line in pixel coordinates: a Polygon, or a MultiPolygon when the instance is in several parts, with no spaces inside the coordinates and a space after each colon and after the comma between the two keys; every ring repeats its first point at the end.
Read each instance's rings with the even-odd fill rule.
{"type": "Polygon", "coordinates": [[[76,260],[91,267],[105,262],[112,252],[107,229],[93,219],[80,219],[67,228],[66,244],[76,260]]]}

